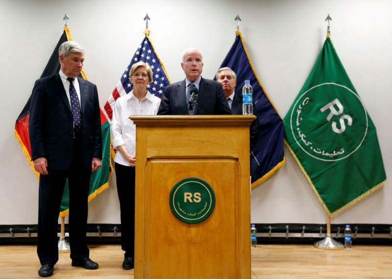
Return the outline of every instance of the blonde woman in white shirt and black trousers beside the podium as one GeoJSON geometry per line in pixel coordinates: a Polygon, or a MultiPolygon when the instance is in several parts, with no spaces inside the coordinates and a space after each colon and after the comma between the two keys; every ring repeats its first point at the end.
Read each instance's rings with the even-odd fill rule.
{"type": "Polygon", "coordinates": [[[129,116],[156,115],[161,103],[161,99],[147,90],[152,82],[148,64],[135,63],[129,76],[133,90],[117,99],[110,127],[113,148],[117,149],[114,162],[121,211],[121,246],[125,251],[123,269],[133,268],[135,250],[136,125],[129,116]]]}

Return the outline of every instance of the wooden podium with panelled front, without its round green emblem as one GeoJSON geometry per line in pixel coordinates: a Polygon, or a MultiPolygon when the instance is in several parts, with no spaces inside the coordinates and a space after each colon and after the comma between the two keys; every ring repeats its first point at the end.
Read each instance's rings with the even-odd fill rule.
{"type": "Polygon", "coordinates": [[[131,116],[136,124],[135,279],[249,279],[249,125],[254,116],[131,116]],[[215,193],[188,224],[173,186],[201,178],[215,193]]]}

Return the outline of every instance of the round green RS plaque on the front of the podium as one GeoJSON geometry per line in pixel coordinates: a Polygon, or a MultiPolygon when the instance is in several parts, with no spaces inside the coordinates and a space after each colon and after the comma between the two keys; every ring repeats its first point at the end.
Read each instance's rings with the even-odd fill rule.
{"type": "Polygon", "coordinates": [[[172,188],[169,204],[174,216],[182,222],[200,223],[214,210],[215,194],[205,180],[184,178],[172,188]]]}

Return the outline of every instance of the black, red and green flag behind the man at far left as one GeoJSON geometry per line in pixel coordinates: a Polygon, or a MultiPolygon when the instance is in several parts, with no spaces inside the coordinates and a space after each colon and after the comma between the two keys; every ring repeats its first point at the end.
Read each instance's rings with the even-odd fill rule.
{"type": "MultiPolygon", "coordinates": [[[[52,55],[49,58],[48,64],[46,65],[44,72],[41,77],[51,76],[57,74],[60,71],[60,61],[58,60],[58,49],[60,45],[66,41],[72,41],[71,32],[68,27],[64,27],[64,32],[60,37],[52,55]]],[[[82,71],[80,77],[87,80],[87,76],[82,71]]],[[[25,107],[15,123],[15,138],[19,142],[22,148],[22,152],[25,154],[28,164],[33,170],[35,176],[39,178],[40,174],[34,170],[34,164],[31,161],[31,148],[30,139],[28,136],[28,119],[29,119],[29,108],[30,108],[31,95],[28,99],[25,107]]],[[[105,115],[101,110],[101,129],[102,129],[102,166],[91,175],[90,180],[90,191],[89,191],[89,202],[94,199],[99,193],[109,187],[109,175],[113,172],[111,166],[111,138],[110,138],[110,125],[105,115]]],[[[69,187],[68,180],[66,181],[63,199],[60,207],[60,217],[67,215],[69,212],[69,187]]]]}

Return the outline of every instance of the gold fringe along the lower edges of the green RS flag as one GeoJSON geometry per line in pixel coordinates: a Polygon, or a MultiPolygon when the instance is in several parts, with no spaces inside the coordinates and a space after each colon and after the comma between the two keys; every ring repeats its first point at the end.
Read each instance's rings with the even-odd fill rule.
{"type": "Polygon", "coordinates": [[[321,199],[319,192],[317,191],[315,185],[313,184],[312,180],[310,179],[310,177],[308,176],[308,174],[306,173],[305,169],[303,168],[301,162],[299,161],[298,157],[295,155],[293,149],[290,147],[289,143],[286,141],[286,139],[284,139],[284,143],[286,144],[286,146],[289,148],[290,153],[293,154],[293,157],[295,159],[295,161],[297,162],[299,168],[301,169],[302,173],[305,175],[306,179],[308,180],[309,184],[312,186],[313,191],[315,192],[317,198],[319,199],[321,205],[324,207],[325,212],[328,214],[329,217],[334,217],[336,215],[338,215],[339,213],[341,213],[342,211],[344,211],[345,209],[347,209],[348,207],[354,205],[355,203],[361,201],[362,199],[366,198],[368,195],[370,195],[371,193],[375,192],[376,190],[380,189],[382,186],[384,186],[385,182],[387,182],[387,179],[385,179],[384,181],[382,181],[381,183],[375,185],[374,187],[372,187],[371,189],[369,189],[367,192],[363,193],[361,196],[357,197],[356,199],[352,200],[349,203],[346,203],[345,205],[343,205],[341,208],[335,210],[334,212],[330,212],[329,209],[327,208],[326,204],[324,203],[324,201],[321,199]]]}

